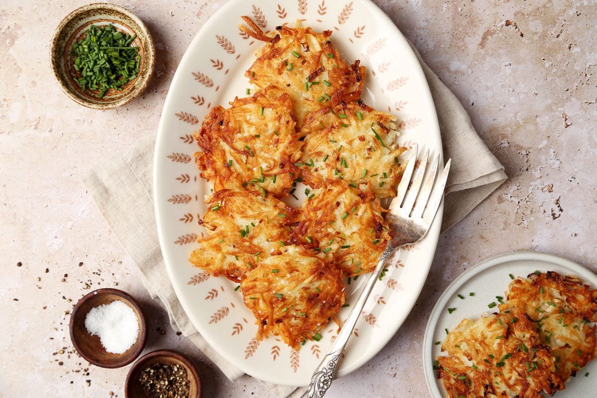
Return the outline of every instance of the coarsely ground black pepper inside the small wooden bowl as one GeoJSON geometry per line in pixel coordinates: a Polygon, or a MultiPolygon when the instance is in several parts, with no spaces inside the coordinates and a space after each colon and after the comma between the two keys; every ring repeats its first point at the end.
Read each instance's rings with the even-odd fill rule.
{"type": "Polygon", "coordinates": [[[189,397],[189,378],[181,365],[154,363],[141,371],[139,381],[152,398],[189,397]]]}

